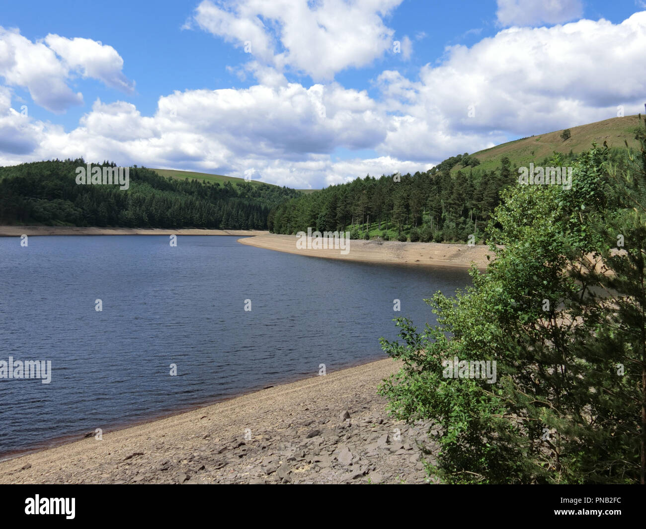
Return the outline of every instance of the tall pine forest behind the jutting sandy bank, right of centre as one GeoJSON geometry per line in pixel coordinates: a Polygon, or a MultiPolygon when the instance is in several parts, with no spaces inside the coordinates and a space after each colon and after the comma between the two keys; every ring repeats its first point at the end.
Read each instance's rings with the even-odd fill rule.
{"type": "MultiPolygon", "coordinates": [[[[536,165],[563,166],[576,156],[554,152],[536,165]]],[[[481,171],[468,153],[452,156],[430,171],[366,176],[301,195],[269,214],[269,230],[293,234],[349,230],[353,239],[466,242],[486,236],[500,193],[518,179],[518,168],[503,157],[497,169],[481,171]],[[453,171],[456,167],[459,170],[453,171]]]]}

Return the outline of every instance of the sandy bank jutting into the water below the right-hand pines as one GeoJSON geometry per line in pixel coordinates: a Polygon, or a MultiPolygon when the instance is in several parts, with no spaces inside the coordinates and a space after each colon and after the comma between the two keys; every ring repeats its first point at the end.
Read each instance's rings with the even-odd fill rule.
{"type": "Polygon", "coordinates": [[[495,254],[487,245],[468,246],[439,242],[377,242],[352,239],[349,241],[349,252],[345,255],[341,254],[339,249],[297,249],[295,235],[266,233],[240,239],[238,242],[308,257],[406,266],[446,266],[468,269],[474,262],[479,269],[483,270],[489,263],[487,256],[490,256],[491,260],[495,258],[495,254]]]}

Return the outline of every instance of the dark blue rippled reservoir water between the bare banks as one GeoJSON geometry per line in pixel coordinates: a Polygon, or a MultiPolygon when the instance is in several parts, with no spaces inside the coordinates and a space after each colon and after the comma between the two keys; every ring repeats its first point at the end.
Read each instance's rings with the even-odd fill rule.
{"type": "Polygon", "coordinates": [[[238,238],[0,237],[0,360],[52,362],[50,384],[0,379],[0,455],[386,358],[392,318],[435,322],[422,298],[470,284],[238,238]]]}

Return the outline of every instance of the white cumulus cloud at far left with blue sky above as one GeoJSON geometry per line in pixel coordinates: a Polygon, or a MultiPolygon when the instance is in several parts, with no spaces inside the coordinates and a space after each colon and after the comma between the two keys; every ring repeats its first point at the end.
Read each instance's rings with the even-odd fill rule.
{"type": "Polygon", "coordinates": [[[34,103],[57,114],[83,103],[81,92],[68,85],[77,72],[131,92],[134,85],[121,73],[122,66],[114,48],[90,39],[48,35],[32,42],[18,30],[0,26],[0,76],[10,87],[26,88],[34,103]]]}

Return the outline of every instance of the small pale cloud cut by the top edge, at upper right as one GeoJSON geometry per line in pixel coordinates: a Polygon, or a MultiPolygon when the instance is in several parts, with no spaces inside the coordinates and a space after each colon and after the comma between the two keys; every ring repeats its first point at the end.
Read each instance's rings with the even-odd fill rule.
{"type": "Polygon", "coordinates": [[[581,0],[497,0],[496,16],[502,26],[561,24],[583,16],[581,0]]]}

